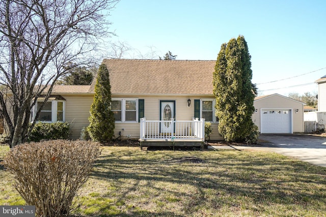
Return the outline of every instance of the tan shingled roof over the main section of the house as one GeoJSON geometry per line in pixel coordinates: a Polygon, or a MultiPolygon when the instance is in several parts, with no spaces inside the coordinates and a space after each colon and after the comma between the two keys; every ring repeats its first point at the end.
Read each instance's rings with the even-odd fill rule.
{"type": "MultiPolygon", "coordinates": [[[[112,94],[212,95],[215,60],[104,59],[112,94]]],[[[94,92],[96,79],[89,91],[94,92]]]]}

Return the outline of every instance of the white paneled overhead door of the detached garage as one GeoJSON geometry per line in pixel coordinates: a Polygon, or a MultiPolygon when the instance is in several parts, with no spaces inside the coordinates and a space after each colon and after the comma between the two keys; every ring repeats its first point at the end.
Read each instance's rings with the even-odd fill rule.
{"type": "Polygon", "coordinates": [[[291,110],[262,109],[261,133],[291,133],[291,110]]]}

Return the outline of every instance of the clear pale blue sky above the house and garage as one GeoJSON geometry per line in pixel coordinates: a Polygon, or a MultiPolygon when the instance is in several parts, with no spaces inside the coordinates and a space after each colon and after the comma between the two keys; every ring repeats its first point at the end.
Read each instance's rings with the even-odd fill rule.
{"type": "MultiPolygon", "coordinates": [[[[317,94],[326,75],[326,1],[121,0],[110,11],[112,42],[177,60],[216,60],[221,45],[244,36],[259,95],[317,94]]],[[[129,51],[130,52],[130,51],[129,51]]]]}

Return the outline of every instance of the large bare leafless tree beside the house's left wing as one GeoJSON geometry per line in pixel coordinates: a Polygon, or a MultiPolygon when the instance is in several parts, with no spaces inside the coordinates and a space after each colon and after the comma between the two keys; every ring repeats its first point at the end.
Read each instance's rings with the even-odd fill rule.
{"type": "Polygon", "coordinates": [[[96,51],[100,38],[112,34],[105,13],[118,2],[0,2],[0,113],[11,147],[28,137],[32,107],[42,95],[47,102],[53,84],[69,70],[64,66],[92,62],[86,54],[96,51]]]}

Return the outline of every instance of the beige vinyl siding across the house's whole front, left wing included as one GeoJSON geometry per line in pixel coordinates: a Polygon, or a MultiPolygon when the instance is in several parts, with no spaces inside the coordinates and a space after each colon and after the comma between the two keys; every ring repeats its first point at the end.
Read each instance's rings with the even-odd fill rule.
{"type": "MultiPolygon", "coordinates": [[[[93,103],[93,96],[85,95],[63,95],[66,99],[65,115],[66,121],[70,122],[70,136],[71,139],[78,139],[80,137],[80,131],[83,127],[89,125],[88,118],[90,116],[90,108],[93,103]]],[[[145,100],[145,117],[147,120],[159,120],[159,101],[160,100],[174,100],[176,101],[176,120],[192,120],[194,117],[194,100],[195,99],[212,99],[210,97],[196,97],[192,100],[191,106],[187,107],[188,97],[157,97],[157,96],[113,96],[112,98],[138,98],[145,100]]],[[[212,123],[211,140],[221,140],[222,138],[218,133],[218,123],[212,123]]],[[[114,137],[119,137],[121,132],[121,138],[127,139],[130,135],[130,139],[139,139],[140,137],[140,123],[115,123],[114,137]],[[124,129],[124,130],[122,130],[124,129]]]]}

